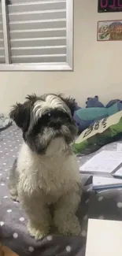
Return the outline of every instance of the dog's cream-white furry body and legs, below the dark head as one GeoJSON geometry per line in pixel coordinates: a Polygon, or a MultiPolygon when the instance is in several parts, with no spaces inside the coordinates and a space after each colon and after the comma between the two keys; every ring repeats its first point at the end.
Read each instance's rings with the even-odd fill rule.
{"type": "Polygon", "coordinates": [[[51,224],[64,235],[79,235],[80,185],[76,157],[64,135],[54,136],[44,154],[31,150],[25,141],[9,180],[11,196],[19,197],[28,214],[28,231],[35,239],[46,236],[51,224]],[[50,205],[54,206],[53,217],[50,205]]]}

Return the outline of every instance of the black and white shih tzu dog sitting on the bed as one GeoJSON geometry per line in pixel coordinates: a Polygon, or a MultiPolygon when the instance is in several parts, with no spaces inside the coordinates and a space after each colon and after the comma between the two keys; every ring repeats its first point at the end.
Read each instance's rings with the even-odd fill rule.
{"type": "Polygon", "coordinates": [[[10,172],[9,191],[14,200],[19,198],[35,239],[46,236],[52,224],[63,235],[80,233],[81,180],[71,148],[77,132],[75,106],[75,100],[61,95],[29,95],[10,112],[24,143],[10,172]]]}

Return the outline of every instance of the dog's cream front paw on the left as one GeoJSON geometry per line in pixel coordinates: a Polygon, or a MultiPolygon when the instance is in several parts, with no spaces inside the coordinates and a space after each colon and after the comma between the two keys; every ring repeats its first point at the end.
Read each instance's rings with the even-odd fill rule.
{"type": "Polygon", "coordinates": [[[38,225],[37,228],[37,224],[36,227],[34,226],[34,224],[30,224],[28,222],[28,232],[31,236],[34,236],[36,240],[38,239],[43,239],[43,237],[47,236],[47,234],[50,231],[50,227],[48,226],[41,226],[40,224],[38,225]]]}

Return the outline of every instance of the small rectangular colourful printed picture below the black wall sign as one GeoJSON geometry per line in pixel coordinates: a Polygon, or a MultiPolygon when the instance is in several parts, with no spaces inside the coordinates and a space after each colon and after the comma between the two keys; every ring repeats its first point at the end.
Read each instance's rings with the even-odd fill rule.
{"type": "Polygon", "coordinates": [[[98,41],[122,40],[122,20],[98,21],[98,41]]]}

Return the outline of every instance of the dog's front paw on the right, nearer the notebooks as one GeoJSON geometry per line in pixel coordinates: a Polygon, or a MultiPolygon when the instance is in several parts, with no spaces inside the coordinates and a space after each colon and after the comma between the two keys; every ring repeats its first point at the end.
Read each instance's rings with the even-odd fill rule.
{"type": "Polygon", "coordinates": [[[80,236],[81,234],[81,227],[79,224],[79,220],[76,216],[69,218],[66,221],[58,223],[57,228],[62,235],[66,236],[80,236]]]}

